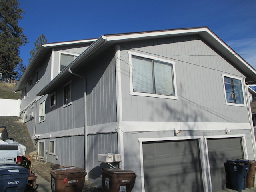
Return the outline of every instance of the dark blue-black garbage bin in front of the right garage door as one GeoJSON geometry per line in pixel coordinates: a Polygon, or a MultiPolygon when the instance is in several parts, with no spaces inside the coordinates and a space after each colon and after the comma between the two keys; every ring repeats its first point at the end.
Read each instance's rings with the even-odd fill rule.
{"type": "Polygon", "coordinates": [[[249,171],[249,164],[244,160],[228,160],[224,163],[226,172],[226,187],[242,191],[246,188],[246,176],[249,171]]]}

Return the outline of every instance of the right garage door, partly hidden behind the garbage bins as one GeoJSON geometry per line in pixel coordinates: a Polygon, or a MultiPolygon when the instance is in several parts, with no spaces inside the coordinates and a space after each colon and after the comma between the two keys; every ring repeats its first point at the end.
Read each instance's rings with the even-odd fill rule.
{"type": "Polygon", "coordinates": [[[208,139],[208,156],[212,180],[212,191],[226,188],[226,160],[244,158],[241,138],[208,139]]]}

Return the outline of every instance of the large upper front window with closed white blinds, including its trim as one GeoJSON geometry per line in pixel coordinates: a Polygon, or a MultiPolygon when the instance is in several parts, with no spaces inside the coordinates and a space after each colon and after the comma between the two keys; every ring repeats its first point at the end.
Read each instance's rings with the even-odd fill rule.
{"type": "Polygon", "coordinates": [[[132,95],[178,99],[174,62],[128,52],[132,95]]]}

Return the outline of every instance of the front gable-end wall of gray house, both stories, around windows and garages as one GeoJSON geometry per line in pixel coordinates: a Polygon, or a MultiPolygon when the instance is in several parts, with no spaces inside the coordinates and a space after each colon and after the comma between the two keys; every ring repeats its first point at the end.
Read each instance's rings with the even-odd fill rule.
{"type": "MultiPolygon", "coordinates": [[[[177,137],[181,140],[197,138],[202,145],[200,158],[205,164],[202,169],[207,169],[203,173],[206,177],[210,174],[207,138],[242,136],[244,157],[255,158],[247,103],[245,106],[225,105],[222,74],[244,79],[232,64],[198,36],[120,44],[121,166],[138,175],[135,191],[144,191],[144,140],[157,142],[178,140],[177,137]],[[175,62],[178,99],[130,94],[129,51],[175,62]],[[181,130],[178,136],[174,135],[174,128],[181,130]],[[226,128],[232,130],[231,135],[226,134],[226,128]]],[[[242,84],[245,84],[244,80],[242,84]]],[[[246,99],[245,96],[245,102],[246,99]]],[[[204,190],[210,189],[210,180],[204,180],[204,184],[204,190]]]]}

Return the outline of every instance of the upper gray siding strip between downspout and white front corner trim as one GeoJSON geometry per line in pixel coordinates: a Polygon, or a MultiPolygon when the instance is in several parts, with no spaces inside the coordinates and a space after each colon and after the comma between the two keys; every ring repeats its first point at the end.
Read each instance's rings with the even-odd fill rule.
{"type": "Polygon", "coordinates": [[[87,69],[87,125],[117,121],[114,49],[90,62],[87,69]]]}

